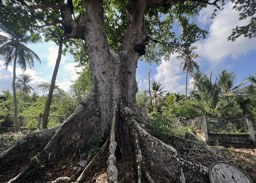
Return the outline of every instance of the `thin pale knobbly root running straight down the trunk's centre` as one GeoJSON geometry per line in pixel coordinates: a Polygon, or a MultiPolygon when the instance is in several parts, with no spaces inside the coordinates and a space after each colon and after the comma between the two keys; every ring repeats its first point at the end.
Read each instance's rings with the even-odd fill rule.
{"type": "Polygon", "coordinates": [[[111,126],[111,132],[110,132],[110,143],[109,143],[109,156],[107,159],[107,179],[109,183],[118,183],[117,182],[117,168],[115,166],[116,163],[116,157],[115,157],[115,149],[117,146],[117,143],[115,141],[115,122],[116,122],[116,110],[117,105],[114,106],[114,112],[113,112],[113,119],[112,119],[112,126],[111,126]]]}

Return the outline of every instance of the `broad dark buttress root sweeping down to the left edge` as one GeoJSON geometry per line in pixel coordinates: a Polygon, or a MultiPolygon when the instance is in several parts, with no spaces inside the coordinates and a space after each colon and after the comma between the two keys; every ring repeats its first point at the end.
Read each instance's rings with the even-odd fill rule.
{"type": "MultiPolygon", "coordinates": [[[[90,95],[93,95],[93,92],[90,95]]],[[[7,168],[14,167],[15,164],[19,164],[20,160],[24,161],[25,159],[28,165],[21,173],[17,172],[19,174],[11,182],[26,182],[27,178],[33,176],[37,170],[36,159],[40,159],[40,162],[47,167],[50,161],[57,160],[61,156],[78,153],[95,131],[102,131],[100,118],[97,116],[98,114],[95,112],[97,110],[91,100],[94,100],[93,97],[87,97],[84,101],[91,105],[79,105],[60,126],[32,133],[2,152],[0,154],[0,171],[6,171],[7,168]],[[32,148],[36,146],[33,143],[38,145],[38,148],[32,148]],[[30,151],[31,148],[32,151],[30,151]]],[[[61,181],[61,179],[63,178],[58,180],[61,181]]],[[[67,180],[69,181],[70,178],[67,180]]]]}

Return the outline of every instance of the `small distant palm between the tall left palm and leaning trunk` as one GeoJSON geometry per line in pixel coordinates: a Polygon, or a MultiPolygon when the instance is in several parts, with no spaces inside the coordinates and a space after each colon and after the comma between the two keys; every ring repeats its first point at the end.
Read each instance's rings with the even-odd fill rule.
{"type": "Polygon", "coordinates": [[[31,91],[34,90],[30,85],[27,84],[33,79],[29,74],[21,74],[20,78],[19,77],[16,77],[16,78],[17,78],[17,81],[15,84],[15,87],[17,88],[17,90],[19,90],[22,93],[21,101],[23,101],[24,94],[31,93],[31,91]]]}

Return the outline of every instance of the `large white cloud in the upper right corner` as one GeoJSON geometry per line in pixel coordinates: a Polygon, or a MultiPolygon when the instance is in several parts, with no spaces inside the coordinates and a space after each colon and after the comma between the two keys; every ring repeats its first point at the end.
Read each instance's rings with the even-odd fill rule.
{"type": "Polygon", "coordinates": [[[209,61],[220,62],[227,56],[238,57],[249,50],[255,49],[256,39],[240,36],[236,41],[227,41],[232,28],[236,25],[247,24],[249,19],[238,20],[239,12],[232,9],[229,1],[224,9],[217,12],[217,16],[211,20],[212,7],[205,8],[198,16],[198,21],[202,24],[211,23],[209,36],[197,43],[197,52],[209,61]]]}

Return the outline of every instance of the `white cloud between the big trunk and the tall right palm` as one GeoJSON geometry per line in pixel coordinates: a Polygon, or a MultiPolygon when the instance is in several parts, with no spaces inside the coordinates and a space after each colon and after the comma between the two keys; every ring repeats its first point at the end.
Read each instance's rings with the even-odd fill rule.
{"type": "Polygon", "coordinates": [[[179,84],[180,80],[185,79],[185,77],[182,76],[181,61],[176,59],[177,55],[177,53],[172,54],[168,61],[162,59],[159,66],[156,67],[157,73],[154,75],[154,79],[165,85],[164,90],[169,92],[182,92],[185,90],[185,85],[179,84]]]}

